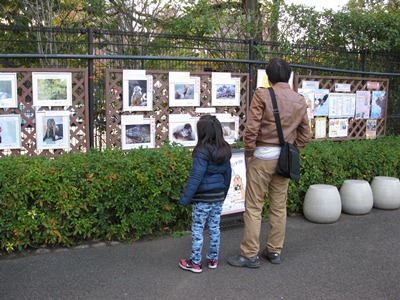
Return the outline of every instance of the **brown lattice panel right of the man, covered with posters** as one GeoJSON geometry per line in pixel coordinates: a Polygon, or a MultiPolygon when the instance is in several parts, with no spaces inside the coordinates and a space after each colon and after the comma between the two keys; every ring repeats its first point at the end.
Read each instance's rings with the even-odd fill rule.
{"type": "MultiPolygon", "coordinates": [[[[351,93],[356,91],[367,91],[368,82],[379,82],[379,90],[386,91],[386,97],[389,93],[389,80],[382,78],[368,78],[368,77],[335,77],[335,76],[307,76],[307,75],[296,75],[294,77],[294,90],[302,88],[302,81],[319,81],[320,89],[328,89],[329,92],[335,92],[335,84],[350,84],[351,93]]],[[[389,99],[386,98],[386,110],[388,107],[389,99]]],[[[386,112],[385,112],[386,116],[386,112]]],[[[329,133],[329,119],[327,117],[326,123],[326,137],[331,140],[355,140],[355,139],[365,139],[366,138],[366,126],[367,120],[365,119],[349,119],[349,131],[347,137],[340,138],[328,138],[329,133]]],[[[314,119],[311,120],[311,131],[312,136],[315,135],[315,124],[314,119]]],[[[377,119],[376,124],[376,136],[382,136],[386,133],[386,118],[377,119]]]]}

